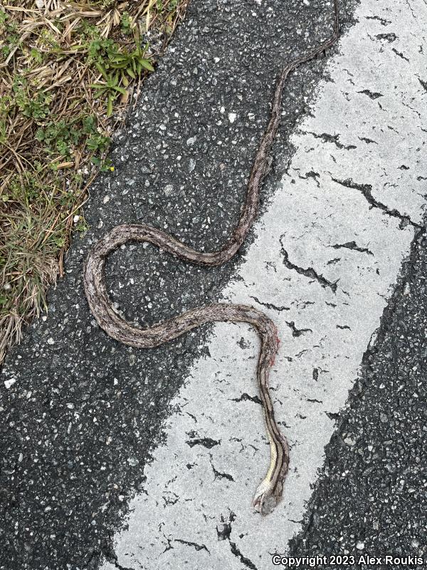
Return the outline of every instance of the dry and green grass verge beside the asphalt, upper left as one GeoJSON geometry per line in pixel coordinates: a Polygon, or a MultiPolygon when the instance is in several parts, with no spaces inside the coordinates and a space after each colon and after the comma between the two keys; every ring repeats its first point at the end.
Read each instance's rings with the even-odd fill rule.
{"type": "Polygon", "coordinates": [[[187,0],[0,4],[0,363],[46,309],[110,138],[187,0]]]}

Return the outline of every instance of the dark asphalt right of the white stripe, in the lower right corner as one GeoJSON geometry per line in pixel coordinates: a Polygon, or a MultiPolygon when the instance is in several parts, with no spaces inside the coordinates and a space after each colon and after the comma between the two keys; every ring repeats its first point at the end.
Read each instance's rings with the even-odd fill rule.
{"type": "Polygon", "coordinates": [[[384,311],[378,339],[364,355],[347,410],[337,418],[304,531],[292,541],[289,556],[388,555],[401,563],[371,567],[425,567],[415,559],[427,559],[426,276],[423,230],[384,311]]]}

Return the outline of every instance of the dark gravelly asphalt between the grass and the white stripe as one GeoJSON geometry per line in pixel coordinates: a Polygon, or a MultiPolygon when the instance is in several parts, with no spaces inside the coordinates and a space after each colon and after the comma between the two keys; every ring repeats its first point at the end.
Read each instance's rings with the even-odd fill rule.
{"type": "MultiPolygon", "coordinates": [[[[342,28],[352,2],[342,1],[342,28]]],[[[330,3],[193,0],[167,56],[144,88],[85,210],[49,313],[4,364],[0,393],[1,570],[95,569],[127,504],[142,488],[168,403],[209,326],[152,351],[108,338],[82,288],[88,248],[115,224],[144,221],[197,248],[218,247],[243,201],[284,61],[330,29],[330,3]]],[[[283,100],[271,188],[292,155],[324,59],[294,73],[283,100]]],[[[253,234],[247,244],[253,241],[253,234]]],[[[244,254],[247,244],[243,247],[244,254]]],[[[214,271],[131,245],[107,263],[108,289],[130,321],[147,325],[216,299],[238,259],[214,271]]],[[[201,347],[201,348],[199,348],[201,347]]]]}

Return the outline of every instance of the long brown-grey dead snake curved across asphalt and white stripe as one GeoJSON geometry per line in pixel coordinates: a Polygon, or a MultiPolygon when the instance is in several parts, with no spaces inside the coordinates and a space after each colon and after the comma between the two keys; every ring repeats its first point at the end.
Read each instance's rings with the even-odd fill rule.
{"type": "Polygon", "coordinates": [[[222,265],[233,258],[246,239],[258,214],[260,189],[263,185],[268,158],[280,123],[285,81],[298,66],[320,55],[327,48],[331,48],[337,41],[339,38],[338,0],[334,0],[333,12],[333,31],[330,37],[302,56],[293,59],[278,74],[271,103],[270,119],[255,153],[246,188],[246,199],[243,207],[241,207],[238,224],[223,247],[216,252],[199,252],[161,229],[147,224],[121,224],[113,227],[90,249],[83,269],[83,282],[90,311],[100,328],[110,337],[125,345],[136,348],[154,348],[172,341],[204,323],[214,321],[248,323],[255,328],[260,337],[256,376],[270,443],[270,465],[263,481],[260,482],[255,491],[252,505],[255,511],[263,515],[272,512],[282,498],[283,485],[288,474],[290,460],[288,440],[280,432],[275,420],[273,402],[268,388],[270,368],[275,361],[280,342],[275,323],[262,311],[254,309],[252,306],[214,303],[189,309],[182,314],[147,328],[139,328],[117,314],[112,306],[112,301],[105,288],[104,266],[105,259],[113,250],[130,241],[149,242],[174,257],[202,266],[222,265]]]}

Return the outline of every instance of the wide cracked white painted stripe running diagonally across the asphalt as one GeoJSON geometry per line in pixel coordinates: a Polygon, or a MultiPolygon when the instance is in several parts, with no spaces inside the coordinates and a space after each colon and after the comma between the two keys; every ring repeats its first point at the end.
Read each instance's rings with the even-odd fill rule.
{"type": "MultiPolygon", "coordinates": [[[[427,93],[418,81],[427,80],[427,53],[420,47],[426,4],[362,0],[357,19],[330,64],[333,81],[322,83],[313,117],[292,137],[297,152],[258,222],[241,279],[223,295],[254,306],[256,298],[289,307],[264,306],[282,340],[271,385],[277,417],[292,446],[283,502],[264,519],[251,509],[268,466],[268,440],[260,405],[234,399],[258,394],[258,339],[247,326],[218,324],[209,343],[211,358],[201,358],[191,371],[175,400],[178,411],[169,418],[167,445],[155,450],[145,470],[147,494],[132,500],[129,527],[115,537],[122,566],[252,567],[243,564],[238,549],[256,569],[270,569],[270,554],[285,551],[300,530],[298,521],[334,430],[327,412],[345,404],[413,237],[411,225],[399,229],[398,218],[370,209],[360,190],[332,179],[371,185],[377,201],[417,223],[426,192],[426,181],[418,180],[427,177],[421,128],[427,124],[427,93]],[[395,33],[396,40],[376,37],[384,33],[395,33]],[[371,98],[367,90],[381,97],[371,98]],[[339,134],[347,149],[310,133],[339,134]],[[371,253],[332,247],[353,241],[371,253]],[[330,282],[339,280],[336,293],[287,268],[283,250],[292,264],[312,267],[330,282]],[[310,330],[292,336],[291,321],[310,330]],[[190,447],[191,432],[221,443],[190,447]],[[230,516],[230,537],[218,540],[217,528],[223,529],[230,516]]],[[[102,566],[114,568],[107,562],[102,566]]]]}

